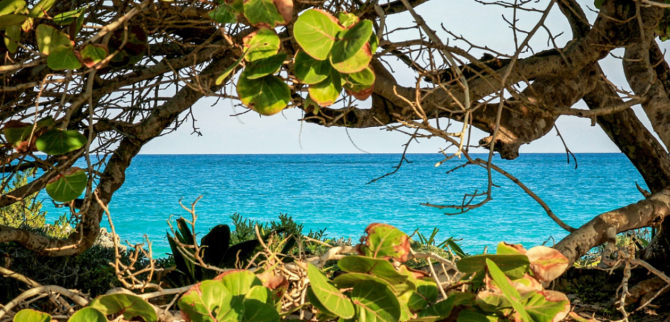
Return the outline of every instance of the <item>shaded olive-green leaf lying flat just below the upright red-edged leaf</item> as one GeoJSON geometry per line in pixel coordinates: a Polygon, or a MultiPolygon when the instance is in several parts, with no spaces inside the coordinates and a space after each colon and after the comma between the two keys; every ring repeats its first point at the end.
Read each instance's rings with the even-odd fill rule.
{"type": "Polygon", "coordinates": [[[337,262],[337,266],[344,272],[372,274],[394,287],[407,282],[407,276],[397,272],[388,260],[381,258],[346,256],[337,262]]]}

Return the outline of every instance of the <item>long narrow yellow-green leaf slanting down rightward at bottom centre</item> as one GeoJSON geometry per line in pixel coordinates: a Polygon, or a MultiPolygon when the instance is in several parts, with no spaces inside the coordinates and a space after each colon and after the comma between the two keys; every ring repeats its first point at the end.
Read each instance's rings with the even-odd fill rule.
{"type": "Polygon", "coordinates": [[[352,318],[355,313],[351,301],[330,284],[326,275],[316,266],[307,264],[307,276],[312,284],[314,295],[330,312],[341,318],[352,318]]]}

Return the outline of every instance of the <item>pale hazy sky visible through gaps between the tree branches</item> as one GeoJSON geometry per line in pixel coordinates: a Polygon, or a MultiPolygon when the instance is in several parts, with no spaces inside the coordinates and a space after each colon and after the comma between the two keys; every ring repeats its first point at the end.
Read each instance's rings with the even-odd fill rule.
{"type": "MultiPolygon", "coordinates": [[[[381,0],[385,3],[387,0],[381,0]]],[[[467,49],[466,43],[458,42],[441,30],[441,26],[453,33],[462,35],[478,45],[486,45],[499,52],[511,54],[514,50],[512,30],[503,20],[502,14],[508,20],[512,18],[512,11],[503,10],[500,6],[484,6],[473,0],[448,1],[432,0],[417,7],[417,12],[424,17],[427,24],[436,30],[444,43],[467,49]]],[[[578,1],[589,9],[594,9],[593,1],[578,1]]],[[[535,8],[544,9],[549,4],[547,0],[538,1],[535,8]]],[[[595,20],[596,13],[586,9],[589,21],[595,20]]],[[[529,30],[537,23],[538,13],[521,14],[520,28],[529,30]]],[[[387,18],[389,29],[414,26],[414,20],[409,13],[402,13],[387,18]]],[[[571,40],[569,25],[559,9],[554,6],[547,18],[547,27],[551,30],[556,43],[563,47],[571,40]]],[[[416,39],[417,30],[402,31],[395,34],[392,40],[416,39]]],[[[540,30],[531,41],[534,50],[547,49],[547,33],[540,30]]],[[[670,43],[670,42],[668,42],[670,43]]],[[[662,44],[661,48],[670,47],[662,44]]],[[[476,57],[482,52],[473,50],[476,57]]],[[[622,56],[623,51],[617,50],[615,55],[622,56]]],[[[413,74],[402,63],[394,58],[388,62],[395,70],[395,77],[404,86],[414,86],[416,74],[413,74]]],[[[605,74],[614,84],[622,89],[627,86],[620,60],[607,57],[600,62],[605,74]]],[[[359,106],[370,105],[370,100],[358,102],[359,106]]],[[[586,104],[580,101],[573,106],[577,109],[587,109],[586,104]]],[[[641,106],[634,106],[634,111],[642,122],[649,126],[647,116],[641,106]]],[[[401,153],[407,143],[407,135],[385,131],[384,128],[345,129],[324,128],[310,123],[301,123],[302,113],[298,109],[286,109],[275,116],[260,117],[253,111],[241,116],[231,116],[246,111],[241,106],[234,106],[230,100],[216,101],[216,98],[201,99],[194,105],[194,116],[202,136],[192,134],[190,122],[185,123],[175,133],[155,138],[145,145],[143,154],[294,154],[294,153],[401,153]]],[[[562,116],[556,122],[566,144],[572,152],[619,152],[617,147],[605,135],[599,126],[591,126],[591,120],[575,116],[562,116]]],[[[454,126],[456,128],[458,126],[454,126]]],[[[474,130],[471,142],[476,143],[480,138],[487,136],[481,131],[474,130]]],[[[412,143],[407,152],[410,153],[437,153],[446,148],[444,140],[433,138],[412,143]]],[[[485,152],[474,150],[473,152],[485,152]]],[[[520,152],[565,152],[563,143],[552,130],[543,138],[535,140],[529,145],[523,145],[520,152]]]]}

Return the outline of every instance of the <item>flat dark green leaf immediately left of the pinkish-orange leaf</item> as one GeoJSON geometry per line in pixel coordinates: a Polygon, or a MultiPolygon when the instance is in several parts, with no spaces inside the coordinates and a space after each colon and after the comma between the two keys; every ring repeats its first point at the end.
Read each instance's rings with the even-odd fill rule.
{"type": "Polygon", "coordinates": [[[529,270],[530,261],[526,255],[474,255],[461,258],[456,262],[458,271],[471,274],[482,272],[486,267],[486,260],[493,260],[502,272],[510,279],[520,279],[529,270]]]}

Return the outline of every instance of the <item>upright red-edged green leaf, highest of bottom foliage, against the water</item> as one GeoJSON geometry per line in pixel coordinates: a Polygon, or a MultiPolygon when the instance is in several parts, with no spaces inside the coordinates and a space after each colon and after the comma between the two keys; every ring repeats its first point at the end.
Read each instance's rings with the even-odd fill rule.
{"type": "Polygon", "coordinates": [[[358,253],[374,258],[392,258],[399,262],[406,262],[410,255],[410,238],[398,228],[385,223],[372,223],[366,228],[368,234],[358,253]]]}

